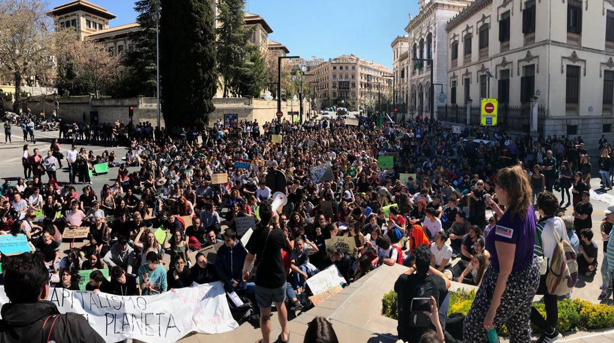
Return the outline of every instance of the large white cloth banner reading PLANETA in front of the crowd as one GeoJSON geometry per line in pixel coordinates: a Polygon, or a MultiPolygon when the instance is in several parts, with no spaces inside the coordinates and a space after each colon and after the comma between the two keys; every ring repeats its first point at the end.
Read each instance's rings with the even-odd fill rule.
{"type": "MultiPolygon", "coordinates": [[[[238,327],[221,282],[179,288],[161,295],[118,296],[50,288],[47,300],[61,313],[84,315],[107,343],[126,338],[143,342],[176,342],[185,335],[224,333],[238,327]]],[[[0,304],[9,302],[4,286],[0,304]]]]}

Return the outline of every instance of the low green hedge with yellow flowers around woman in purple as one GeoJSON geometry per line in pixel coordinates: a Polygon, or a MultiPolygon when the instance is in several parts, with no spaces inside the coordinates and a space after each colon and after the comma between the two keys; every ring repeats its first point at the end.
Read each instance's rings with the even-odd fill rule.
{"type": "MultiPolygon", "coordinates": [[[[475,298],[475,291],[457,290],[450,292],[450,307],[448,314],[461,313],[467,315],[471,303],[475,298]]],[[[546,310],[542,302],[533,303],[535,309],[544,317],[546,310]]],[[[382,299],[382,315],[394,320],[397,319],[397,293],[389,291],[382,299]]],[[[569,331],[594,330],[611,328],[614,326],[614,306],[608,304],[593,304],[581,299],[563,299],[559,301],[558,330],[562,333],[569,331]]],[[[537,331],[537,328],[533,328],[537,331]]],[[[500,336],[508,336],[507,327],[497,328],[500,336]]]]}

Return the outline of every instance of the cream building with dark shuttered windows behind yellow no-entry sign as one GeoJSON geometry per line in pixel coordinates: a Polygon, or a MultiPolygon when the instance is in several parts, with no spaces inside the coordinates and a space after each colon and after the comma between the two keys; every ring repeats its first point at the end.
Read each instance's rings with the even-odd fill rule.
{"type": "Polygon", "coordinates": [[[466,121],[470,106],[477,123],[475,107],[490,97],[499,100],[500,125],[510,129],[611,133],[614,2],[588,2],[475,0],[450,20],[448,120],[466,121]]]}

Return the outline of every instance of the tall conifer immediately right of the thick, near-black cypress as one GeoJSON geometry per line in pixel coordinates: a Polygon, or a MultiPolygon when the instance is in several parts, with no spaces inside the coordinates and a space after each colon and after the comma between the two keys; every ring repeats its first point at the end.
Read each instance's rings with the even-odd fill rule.
{"type": "Polygon", "coordinates": [[[251,29],[244,28],[244,0],[219,0],[220,23],[217,28],[217,69],[222,77],[222,96],[226,98],[231,88],[242,82],[242,69],[253,54],[249,45],[251,29]]]}

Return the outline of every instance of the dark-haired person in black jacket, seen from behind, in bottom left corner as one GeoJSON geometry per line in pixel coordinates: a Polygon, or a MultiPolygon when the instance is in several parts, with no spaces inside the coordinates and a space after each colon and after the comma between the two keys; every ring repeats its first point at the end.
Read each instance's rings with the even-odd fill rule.
{"type": "Polygon", "coordinates": [[[47,342],[104,343],[105,340],[80,314],[60,314],[49,298],[49,272],[37,253],[23,253],[4,261],[4,292],[9,303],[2,305],[0,336],[2,341],[40,342],[46,334],[47,342]],[[55,323],[55,330],[45,322],[55,323]],[[10,338],[9,338],[10,337],[10,338]]]}

